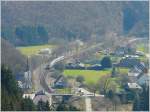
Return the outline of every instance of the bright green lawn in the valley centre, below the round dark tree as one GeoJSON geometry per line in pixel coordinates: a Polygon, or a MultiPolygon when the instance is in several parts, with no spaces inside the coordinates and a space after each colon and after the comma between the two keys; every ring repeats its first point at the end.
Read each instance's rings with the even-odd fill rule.
{"type": "Polygon", "coordinates": [[[65,76],[83,76],[85,79],[85,83],[96,83],[99,79],[107,74],[110,74],[111,70],[102,70],[102,71],[95,71],[95,70],[64,70],[65,76]]]}

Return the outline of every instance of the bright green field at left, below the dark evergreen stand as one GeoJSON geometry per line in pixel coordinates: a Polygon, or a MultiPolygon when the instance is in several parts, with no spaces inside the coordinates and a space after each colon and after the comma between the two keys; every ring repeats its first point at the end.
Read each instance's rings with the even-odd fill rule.
{"type": "Polygon", "coordinates": [[[25,56],[32,56],[40,49],[44,48],[53,48],[54,45],[44,44],[44,45],[36,45],[36,46],[25,46],[25,47],[17,47],[17,49],[25,56]]]}

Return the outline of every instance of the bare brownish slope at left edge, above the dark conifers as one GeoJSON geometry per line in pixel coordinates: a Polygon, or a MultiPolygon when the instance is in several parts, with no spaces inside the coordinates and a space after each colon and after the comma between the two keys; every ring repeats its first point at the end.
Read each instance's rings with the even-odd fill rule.
{"type": "Polygon", "coordinates": [[[13,74],[26,70],[26,58],[4,39],[1,39],[1,64],[9,66],[13,74]]]}

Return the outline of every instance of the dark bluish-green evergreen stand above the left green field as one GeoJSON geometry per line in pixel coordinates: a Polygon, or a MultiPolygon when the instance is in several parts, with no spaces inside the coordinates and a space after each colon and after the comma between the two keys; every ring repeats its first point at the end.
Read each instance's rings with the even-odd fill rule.
{"type": "Polygon", "coordinates": [[[2,37],[21,46],[48,43],[48,32],[44,26],[40,25],[22,25],[15,29],[5,28],[2,30],[2,37]]]}

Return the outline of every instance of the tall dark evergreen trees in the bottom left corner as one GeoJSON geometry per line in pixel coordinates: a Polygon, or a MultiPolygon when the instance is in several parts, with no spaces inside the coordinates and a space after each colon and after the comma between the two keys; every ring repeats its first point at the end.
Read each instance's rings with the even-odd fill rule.
{"type": "Polygon", "coordinates": [[[1,88],[1,109],[5,111],[21,110],[22,92],[17,86],[11,70],[4,65],[1,68],[1,88]]]}

